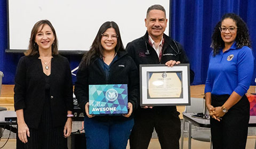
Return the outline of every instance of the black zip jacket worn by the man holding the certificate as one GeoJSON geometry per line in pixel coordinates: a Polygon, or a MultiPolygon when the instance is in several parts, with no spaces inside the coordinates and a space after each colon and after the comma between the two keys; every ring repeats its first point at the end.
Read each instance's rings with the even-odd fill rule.
{"type": "MultiPolygon", "coordinates": [[[[180,63],[189,63],[188,57],[180,43],[164,34],[164,45],[162,59],[159,62],[158,55],[148,42],[148,32],[138,39],[133,40],[126,46],[126,51],[136,63],[138,69],[140,64],[165,64],[167,61],[175,60],[180,63]],[[178,48],[177,48],[178,47],[178,48]],[[147,53],[148,51],[148,53],[147,53]]],[[[194,71],[190,69],[190,83],[194,80],[194,71]]],[[[139,73],[138,73],[139,77],[139,73]]],[[[139,105],[139,101],[138,101],[139,105]]],[[[165,111],[167,109],[176,110],[175,106],[158,106],[154,109],[165,111]]]]}

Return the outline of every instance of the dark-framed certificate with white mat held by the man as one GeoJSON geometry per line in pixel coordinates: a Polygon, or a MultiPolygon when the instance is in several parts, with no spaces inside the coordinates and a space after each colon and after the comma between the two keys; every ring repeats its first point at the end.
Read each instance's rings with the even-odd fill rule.
{"type": "Polygon", "coordinates": [[[189,64],[140,65],[140,106],[190,105],[189,64]]]}

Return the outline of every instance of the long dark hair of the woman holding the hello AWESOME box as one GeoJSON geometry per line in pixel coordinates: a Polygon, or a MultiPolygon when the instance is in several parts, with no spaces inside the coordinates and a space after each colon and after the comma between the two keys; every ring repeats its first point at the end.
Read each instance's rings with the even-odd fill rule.
{"type": "Polygon", "coordinates": [[[90,50],[84,54],[83,59],[79,66],[79,67],[81,67],[81,69],[90,65],[90,63],[92,63],[98,57],[100,57],[100,58],[103,57],[103,47],[101,45],[101,37],[102,37],[102,34],[109,28],[114,28],[116,31],[116,35],[118,36],[117,44],[115,47],[115,52],[117,53],[118,51],[125,51],[123,42],[121,39],[120,31],[119,31],[119,28],[118,28],[116,22],[107,21],[101,25],[95,39],[93,40],[90,50]]]}

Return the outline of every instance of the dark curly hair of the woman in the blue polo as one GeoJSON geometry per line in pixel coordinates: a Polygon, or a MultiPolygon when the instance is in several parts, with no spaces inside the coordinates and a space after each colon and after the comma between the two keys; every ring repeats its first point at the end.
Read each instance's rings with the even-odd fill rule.
{"type": "Polygon", "coordinates": [[[221,38],[221,32],[219,30],[219,27],[221,27],[222,21],[227,18],[233,19],[236,22],[237,34],[236,34],[235,41],[236,41],[237,48],[242,48],[243,46],[251,47],[251,40],[249,37],[249,31],[246,26],[246,23],[237,14],[226,13],[222,16],[221,21],[219,21],[216,24],[216,26],[213,30],[211,47],[213,48],[214,56],[220,52],[220,49],[225,47],[225,43],[223,42],[223,40],[221,38]]]}

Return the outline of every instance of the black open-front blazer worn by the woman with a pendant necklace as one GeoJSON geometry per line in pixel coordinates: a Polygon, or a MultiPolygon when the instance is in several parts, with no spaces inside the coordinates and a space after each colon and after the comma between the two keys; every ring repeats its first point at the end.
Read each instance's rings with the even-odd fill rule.
{"type": "MultiPolygon", "coordinates": [[[[29,128],[38,128],[45,97],[45,74],[39,55],[22,56],[14,86],[14,109],[23,109],[29,128]]],[[[73,110],[73,83],[68,60],[55,55],[51,61],[50,98],[53,126],[64,126],[67,111],[73,110]]]]}

